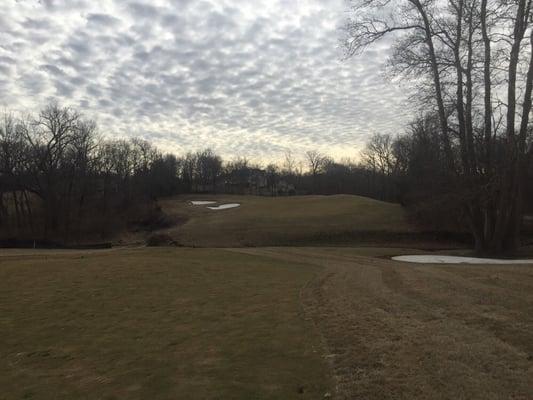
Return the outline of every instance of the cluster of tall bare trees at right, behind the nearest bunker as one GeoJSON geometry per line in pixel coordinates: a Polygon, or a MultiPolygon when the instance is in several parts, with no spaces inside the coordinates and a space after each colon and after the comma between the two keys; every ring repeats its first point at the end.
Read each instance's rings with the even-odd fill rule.
{"type": "Polygon", "coordinates": [[[351,16],[347,56],[390,36],[390,72],[417,86],[435,194],[461,209],[478,252],[514,251],[532,157],[531,1],[357,0],[351,16]]]}

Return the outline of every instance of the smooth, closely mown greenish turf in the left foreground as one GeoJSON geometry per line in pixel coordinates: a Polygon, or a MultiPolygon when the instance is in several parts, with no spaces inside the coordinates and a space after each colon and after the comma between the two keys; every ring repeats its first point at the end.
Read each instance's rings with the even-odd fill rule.
{"type": "Polygon", "coordinates": [[[299,303],[319,267],[207,249],[9,254],[0,256],[1,399],[331,390],[299,303]]]}

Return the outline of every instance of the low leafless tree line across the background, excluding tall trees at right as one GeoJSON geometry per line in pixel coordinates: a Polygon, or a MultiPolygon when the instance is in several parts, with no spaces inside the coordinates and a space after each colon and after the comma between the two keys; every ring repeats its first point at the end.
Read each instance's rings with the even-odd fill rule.
{"type": "MultiPolygon", "coordinates": [[[[504,143],[497,146],[503,157],[504,143]]],[[[533,183],[531,163],[525,177],[533,183]]],[[[157,199],[186,193],[356,194],[401,203],[427,230],[461,231],[465,191],[449,185],[435,115],[402,135],[374,134],[358,162],[308,151],[266,166],[209,149],[177,156],[143,139],[103,139],[94,121],[57,104],[33,117],[5,113],[0,123],[0,238],[84,242],[162,228],[175,221],[157,199]]],[[[524,198],[533,205],[533,191],[524,198]]]]}

